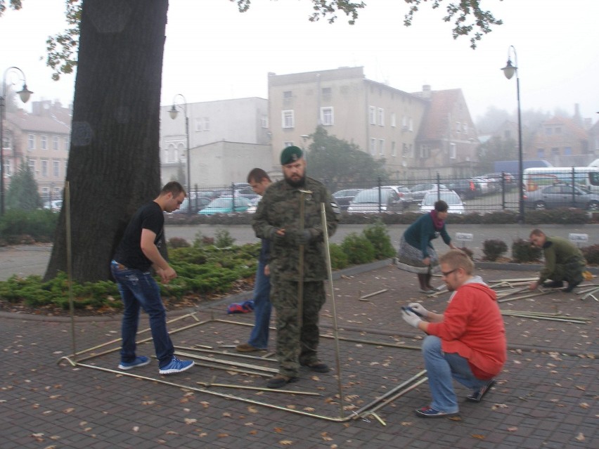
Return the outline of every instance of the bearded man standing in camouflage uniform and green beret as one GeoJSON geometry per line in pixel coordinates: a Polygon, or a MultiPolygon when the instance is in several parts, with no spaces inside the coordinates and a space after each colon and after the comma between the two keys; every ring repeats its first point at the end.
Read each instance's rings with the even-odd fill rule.
{"type": "Polygon", "coordinates": [[[285,148],[281,152],[281,166],[285,178],[266,189],[252,221],[257,237],[271,240],[271,303],[276,310],[279,372],[269,379],[269,388],[294,382],[299,365],[314,372],[329,371],[316,352],[320,338],[318,313],[325,303],[327,278],[321,203],[325,204],[328,235],[333,235],[340,219],[340,210],[326,187],[306,177],[302,150],[296,146],[285,148]],[[302,200],[303,230],[299,217],[302,200]],[[304,251],[302,279],[299,278],[300,249],[304,251]],[[298,282],[303,286],[301,306],[298,282]]]}

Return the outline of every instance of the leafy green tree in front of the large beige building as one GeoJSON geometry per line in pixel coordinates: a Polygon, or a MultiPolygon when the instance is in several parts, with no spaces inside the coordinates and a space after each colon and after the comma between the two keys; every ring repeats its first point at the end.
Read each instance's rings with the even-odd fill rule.
{"type": "Polygon", "coordinates": [[[308,176],[325,181],[330,190],[375,186],[377,178],[389,178],[385,160],[374,159],[355,143],[329,136],[322,126],[318,126],[310,137],[308,176]]]}

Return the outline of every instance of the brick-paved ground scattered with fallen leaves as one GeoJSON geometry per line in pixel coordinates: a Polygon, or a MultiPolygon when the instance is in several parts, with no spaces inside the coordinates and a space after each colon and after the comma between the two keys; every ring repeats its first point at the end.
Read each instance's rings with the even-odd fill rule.
{"type": "MultiPolygon", "coordinates": [[[[489,283],[532,275],[488,268],[477,273],[489,283]]],[[[188,311],[193,315],[169,315],[177,318],[169,324],[177,351],[198,357],[198,366],[171,376],[157,374],[155,359],[126,374],[115,372],[119,316],[72,323],[1,313],[0,448],[599,448],[599,303],[564,292],[500,304],[502,310],[559,310],[590,321],[505,316],[508,362],[482,403],[460,403],[459,420],[413,415],[430,401],[426,382],[376,410],[376,416],[353,415],[423,370],[418,351],[423,334],[401,320],[400,306],[416,299],[443,311],[449,294],[427,298],[416,284],[416,275],[389,265],[333,282],[335,311],[329,298],[321,314],[325,337],[319,353],[335,369],[326,375],[302,371],[299,382],[288,385],[318,396],[205,386],[262,387],[269,370],[276,369],[268,354],[222,354],[234,353],[226,346],[245,341],[253,321],[251,313],[226,315],[233,299],[188,311]],[[377,294],[359,299],[371,293],[377,294]],[[202,352],[204,346],[217,353],[202,352]],[[76,366],[61,359],[74,350],[85,350],[76,366]],[[200,358],[264,371],[207,367],[200,358]]],[[[145,315],[141,323],[147,323],[145,315]]],[[[141,343],[139,353],[151,356],[153,347],[141,343]]],[[[456,392],[468,394],[458,384],[456,392]]]]}

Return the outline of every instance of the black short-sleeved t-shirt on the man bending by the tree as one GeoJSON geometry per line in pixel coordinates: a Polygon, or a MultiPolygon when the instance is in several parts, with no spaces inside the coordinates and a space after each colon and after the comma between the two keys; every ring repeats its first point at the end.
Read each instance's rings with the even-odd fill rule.
{"type": "Polygon", "coordinates": [[[127,268],[148,271],[152,262],[141,251],[141,230],[149,229],[156,234],[154,244],[160,248],[165,216],[162,208],[156,202],[149,202],[138,209],[117,248],[114,259],[127,268]]]}

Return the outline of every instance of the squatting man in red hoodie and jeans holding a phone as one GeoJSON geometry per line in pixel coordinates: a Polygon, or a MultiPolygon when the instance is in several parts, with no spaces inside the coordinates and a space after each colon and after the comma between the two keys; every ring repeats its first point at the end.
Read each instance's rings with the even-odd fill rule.
{"type": "Polygon", "coordinates": [[[480,276],[472,275],[470,257],[453,249],[439,258],[439,264],[442,279],[453,292],[445,313],[427,311],[418,303],[402,313],[406,323],[428,334],[422,351],[432,403],[416,410],[416,415],[427,418],[458,414],[452,379],[472,390],[468,401],[480,402],[507,358],[496,294],[480,276]]]}

